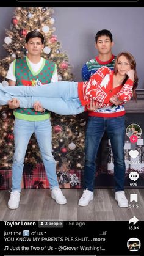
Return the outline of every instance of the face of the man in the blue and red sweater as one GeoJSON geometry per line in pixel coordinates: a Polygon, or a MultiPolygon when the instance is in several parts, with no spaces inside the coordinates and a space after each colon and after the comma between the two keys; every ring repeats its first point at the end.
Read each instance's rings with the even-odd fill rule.
{"type": "Polygon", "coordinates": [[[109,54],[112,51],[113,42],[110,41],[110,38],[106,35],[98,37],[96,42],[96,49],[99,54],[109,54]]]}

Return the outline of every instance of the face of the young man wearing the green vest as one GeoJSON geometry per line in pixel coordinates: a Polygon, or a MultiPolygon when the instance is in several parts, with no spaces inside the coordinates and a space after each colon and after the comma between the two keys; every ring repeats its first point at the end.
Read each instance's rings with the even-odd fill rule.
{"type": "Polygon", "coordinates": [[[28,43],[25,45],[28,54],[31,54],[31,56],[40,56],[41,50],[43,49],[44,45],[41,42],[41,38],[35,37],[30,38],[28,43]]]}

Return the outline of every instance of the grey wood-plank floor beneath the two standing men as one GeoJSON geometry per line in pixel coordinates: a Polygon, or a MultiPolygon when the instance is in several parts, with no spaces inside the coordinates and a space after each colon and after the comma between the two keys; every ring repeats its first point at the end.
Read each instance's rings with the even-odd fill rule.
{"type": "Polygon", "coordinates": [[[67,198],[66,205],[57,205],[51,199],[49,189],[23,189],[20,207],[16,210],[7,208],[9,191],[0,191],[0,220],[4,221],[128,221],[135,216],[144,220],[144,189],[125,189],[126,197],[137,194],[138,202],[132,202],[133,207],[120,208],[115,201],[113,189],[95,189],[94,199],[87,207],[79,207],[77,202],[83,189],[62,189],[67,198]],[[138,208],[137,208],[138,206],[138,208]]]}

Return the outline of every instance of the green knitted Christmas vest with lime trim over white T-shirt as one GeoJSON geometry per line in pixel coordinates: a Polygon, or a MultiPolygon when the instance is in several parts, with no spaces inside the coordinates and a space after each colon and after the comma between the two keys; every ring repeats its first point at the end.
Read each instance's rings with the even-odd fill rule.
{"type": "MultiPolygon", "coordinates": [[[[43,63],[36,73],[32,71],[27,57],[14,60],[14,75],[16,76],[16,86],[35,86],[35,81],[40,81],[41,84],[51,82],[52,75],[56,69],[56,64],[43,58],[43,63]]],[[[42,86],[42,85],[41,85],[42,86]]],[[[27,121],[41,121],[49,119],[48,111],[43,113],[35,111],[33,108],[16,108],[13,112],[16,118],[27,121]]]]}

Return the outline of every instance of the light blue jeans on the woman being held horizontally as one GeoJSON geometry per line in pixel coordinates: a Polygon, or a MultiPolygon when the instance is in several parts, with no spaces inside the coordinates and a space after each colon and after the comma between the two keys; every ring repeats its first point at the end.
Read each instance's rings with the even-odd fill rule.
{"type": "Polygon", "coordinates": [[[43,108],[59,115],[76,115],[84,112],[78,97],[77,82],[52,82],[43,86],[1,86],[0,105],[18,98],[21,108],[32,108],[39,101],[43,108]],[[23,97],[24,96],[24,97],[23,97]]]}

